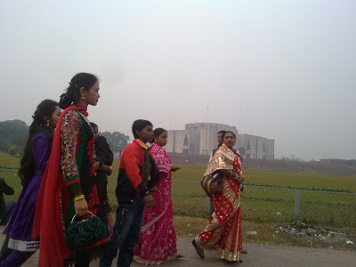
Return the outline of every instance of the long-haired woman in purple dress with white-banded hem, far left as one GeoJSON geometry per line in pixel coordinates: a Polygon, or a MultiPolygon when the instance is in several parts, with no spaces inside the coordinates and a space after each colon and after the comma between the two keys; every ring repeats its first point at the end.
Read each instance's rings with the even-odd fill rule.
{"type": "Polygon", "coordinates": [[[31,241],[32,224],[38,190],[51,154],[54,128],[60,116],[61,109],[56,101],[44,100],[37,106],[20,162],[22,190],[12,219],[4,230],[6,239],[0,266],[20,266],[39,248],[38,241],[31,241]]]}

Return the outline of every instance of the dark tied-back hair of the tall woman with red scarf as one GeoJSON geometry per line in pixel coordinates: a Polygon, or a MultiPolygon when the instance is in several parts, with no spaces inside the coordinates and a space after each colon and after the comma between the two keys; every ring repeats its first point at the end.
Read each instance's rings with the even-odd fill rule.
{"type": "Polygon", "coordinates": [[[67,109],[71,104],[77,104],[80,99],[80,88],[88,91],[98,81],[98,77],[93,74],[77,73],[69,82],[66,93],[61,94],[60,108],[67,109]]]}

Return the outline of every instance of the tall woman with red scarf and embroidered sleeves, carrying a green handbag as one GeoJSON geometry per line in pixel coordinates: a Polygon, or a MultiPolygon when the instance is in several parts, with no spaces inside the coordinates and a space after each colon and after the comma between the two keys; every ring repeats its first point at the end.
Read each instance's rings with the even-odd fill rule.
{"type": "Polygon", "coordinates": [[[38,266],[67,265],[69,255],[75,266],[89,266],[101,251],[98,246],[109,241],[102,239],[77,251],[69,251],[65,244],[65,231],[74,214],[86,219],[90,211],[105,223],[94,178],[94,134],[86,118],[87,106],[96,106],[99,98],[98,78],[89,73],[78,73],[61,95],[64,111],[56,126],[36,206],[32,238],[40,239],[38,266]]]}

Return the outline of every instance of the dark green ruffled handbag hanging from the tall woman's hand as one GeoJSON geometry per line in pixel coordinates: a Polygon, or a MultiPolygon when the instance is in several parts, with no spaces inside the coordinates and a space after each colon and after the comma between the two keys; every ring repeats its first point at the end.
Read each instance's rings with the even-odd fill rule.
{"type": "MultiPolygon", "coordinates": [[[[89,214],[92,214],[88,211],[89,214]]],[[[80,222],[75,221],[74,215],[66,233],[66,245],[70,249],[84,249],[95,245],[101,239],[109,237],[108,228],[98,216],[92,216],[80,222]]]]}

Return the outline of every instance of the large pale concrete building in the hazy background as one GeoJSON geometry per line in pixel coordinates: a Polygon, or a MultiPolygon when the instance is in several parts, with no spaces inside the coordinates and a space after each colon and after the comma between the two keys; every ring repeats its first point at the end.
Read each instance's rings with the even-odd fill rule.
{"type": "Polygon", "coordinates": [[[210,155],[217,146],[217,133],[229,130],[236,134],[235,148],[243,158],[274,158],[274,140],[250,134],[239,134],[235,126],[196,123],[186,124],[185,130],[168,131],[166,151],[169,153],[210,155]]]}

